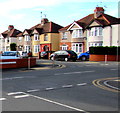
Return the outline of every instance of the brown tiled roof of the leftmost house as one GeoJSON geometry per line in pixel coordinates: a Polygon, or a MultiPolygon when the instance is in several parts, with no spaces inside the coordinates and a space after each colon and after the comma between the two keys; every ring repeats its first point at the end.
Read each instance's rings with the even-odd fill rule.
{"type": "Polygon", "coordinates": [[[17,37],[17,35],[21,33],[21,31],[17,30],[17,29],[11,29],[11,30],[6,30],[4,31],[2,34],[2,36],[4,38],[6,37],[17,37]]]}

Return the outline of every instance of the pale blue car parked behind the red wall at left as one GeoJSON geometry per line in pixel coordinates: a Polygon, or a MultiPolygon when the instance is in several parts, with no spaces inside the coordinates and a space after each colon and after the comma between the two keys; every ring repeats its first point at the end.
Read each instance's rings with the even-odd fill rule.
{"type": "Polygon", "coordinates": [[[21,58],[18,51],[5,51],[0,56],[0,59],[19,59],[21,58]]]}

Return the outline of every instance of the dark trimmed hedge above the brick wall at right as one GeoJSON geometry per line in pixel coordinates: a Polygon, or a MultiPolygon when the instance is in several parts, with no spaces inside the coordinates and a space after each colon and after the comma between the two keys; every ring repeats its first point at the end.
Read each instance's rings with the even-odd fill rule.
{"type": "Polygon", "coordinates": [[[118,55],[118,54],[120,55],[120,46],[119,47],[115,47],[115,46],[90,47],[89,52],[90,54],[97,54],[97,55],[118,55]]]}

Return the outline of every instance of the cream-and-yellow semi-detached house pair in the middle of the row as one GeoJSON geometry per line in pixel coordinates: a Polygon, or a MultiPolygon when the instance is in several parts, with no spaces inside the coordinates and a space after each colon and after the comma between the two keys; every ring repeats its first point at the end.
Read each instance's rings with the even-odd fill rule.
{"type": "MultiPolygon", "coordinates": [[[[22,34],[18,35],[18,42],[20,42],[19,39],[24,41],[22,51],[32,52],[33,56],[39,56],[42,51],[59,50],[60,34],[58,30],[61,28],[62,26],[43,18],[40,24],[25,29],[22,34]]],[[[20,43],[18,45],[20,46],[20,43]]],[[[21,49],[18,48],[18,50],[21,49]]]]}

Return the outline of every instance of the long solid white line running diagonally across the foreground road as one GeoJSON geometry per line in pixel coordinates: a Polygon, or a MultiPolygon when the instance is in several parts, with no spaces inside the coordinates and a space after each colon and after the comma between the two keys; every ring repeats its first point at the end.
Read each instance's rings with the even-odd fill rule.
{"type": "MultiPolygon", "coordinates": [[[[24,94],[28,95],[27,93],[24,93],[24,94]]],[[[46,102],[49,102],[49,103],[53,103],[53,104],[56,104],[56,105],[60,105],[60,106],[63,106],[63,107],[66,107],[66,108],[69,108],[69,109],[72,109],[72,110],[75,110],[75,111],[82,111],[84,113],[88,113],[85,110],[75,108],[75,107],[72,107],[72,106],[69,106],[69,105],[66,105],[66,104],[62,104],[62,103],[52,101],[52,100],[49,100],[49,99],[46,99],[46,98],[42,98],[42,97],[39,97],[39,96],[35,96],[35,95],[32,95],[32,94],[29,94],[29,95],[31,97],[34,97],[34,98],[37,98],[37,99],[40,99],[40,100],[43,100],[43,101],[46,101],[46,102]]]]}

